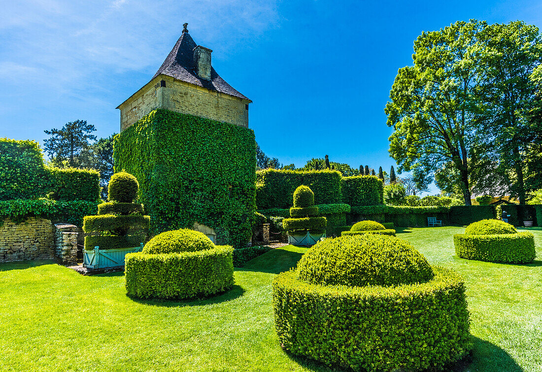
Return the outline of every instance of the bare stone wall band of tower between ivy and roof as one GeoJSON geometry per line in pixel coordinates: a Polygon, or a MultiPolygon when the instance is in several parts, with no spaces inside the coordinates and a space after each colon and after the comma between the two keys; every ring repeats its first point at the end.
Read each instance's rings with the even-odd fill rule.
{"type": "Polygon", "coordinates": [[[158,75],[120,108],[120,130],[157,108],[248,127],[248,100],[158,75]],[[165,81],[165,87],[160,81],[165,81]]]}

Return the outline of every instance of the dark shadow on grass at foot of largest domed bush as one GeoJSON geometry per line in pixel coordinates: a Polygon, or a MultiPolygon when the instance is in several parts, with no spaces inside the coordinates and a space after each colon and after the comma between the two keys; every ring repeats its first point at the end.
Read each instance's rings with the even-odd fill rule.
{"type": "MultiPolygon", "coordinates": [[[[425,369],[424,372],[469,372],[469,371],[483,371],[483,372],[523,372],[518,363],[506,352],[495,344],[483,340],[478,337],[472,336],[474,344],[472,352],[461,360],[447,364],[442,369],[425,369]]],[[[319,361],[312,360],[304,356],[293,355],[291,352],[285,350],[286,355],[295,363],[298,363],[302,367],[309,371],[352,371],[350,368],[340,367],[333,365],[332,367],[321,363],[319,361]]]]}

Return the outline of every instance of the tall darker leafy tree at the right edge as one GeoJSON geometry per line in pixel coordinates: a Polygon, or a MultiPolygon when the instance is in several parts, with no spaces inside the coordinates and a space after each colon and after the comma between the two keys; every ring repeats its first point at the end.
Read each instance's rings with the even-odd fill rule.
{"type": "Polygon", "coordinates": [[[532,156],[537,157],[542,134],[540,123],[531,120],[540,107],[533,72],[542,62],[542,38],[537,27],[521,21],[489,25],[478,38],[483,132],[500,159],[499,172],[509,179],[508,193],[525,204],[536,187],[534,179],[526,182],[533,178],[527,164],[537,163],[532,156]]]}

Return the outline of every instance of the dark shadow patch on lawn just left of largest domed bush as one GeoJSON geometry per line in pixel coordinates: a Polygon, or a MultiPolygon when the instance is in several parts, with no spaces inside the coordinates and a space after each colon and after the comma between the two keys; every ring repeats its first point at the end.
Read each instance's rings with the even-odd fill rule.
{"type": "Polygon", "coordinates": [[[269,274],[280,274],[298,265],[307,248],[287,246],[288,249],[275,248],[255,259],[248,261],[239,271],[255,271],[269,274]]]}

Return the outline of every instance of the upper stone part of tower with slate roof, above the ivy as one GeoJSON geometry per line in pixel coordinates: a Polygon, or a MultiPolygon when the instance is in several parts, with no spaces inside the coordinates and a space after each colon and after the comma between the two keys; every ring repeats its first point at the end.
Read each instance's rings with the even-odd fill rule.
{"type": "Polygon", "coordinates": [[[212,50],[197,45],[187,25],[151,81],[117,107],[121,132],[157,108],[248,127],[252,101],[216,73],[212,50]]]}

